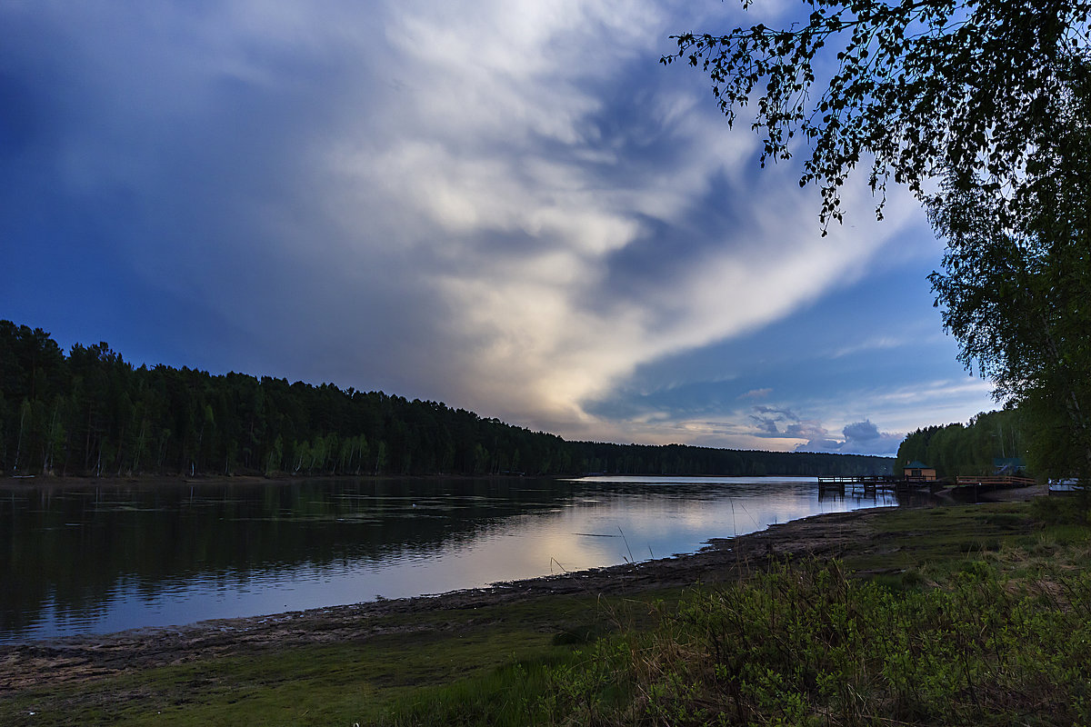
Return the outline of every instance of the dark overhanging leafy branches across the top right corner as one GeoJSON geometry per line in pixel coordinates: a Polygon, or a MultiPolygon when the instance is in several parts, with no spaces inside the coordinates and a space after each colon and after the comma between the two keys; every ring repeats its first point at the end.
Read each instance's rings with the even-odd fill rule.
{"type": "MultiPolygon", "coordinates": [[[[750,0],[743,0],[744,7],[750,0]]],[[[820,219],[840,221],[840,187],[860,163],[880,196],[894,179],[918,196],[954,173],[957,189],[985,180],[1020,186],[1088,48],[1088,0],[806,0],[810,16],[675,36],[702,69],[728,122],[754,104],[762,163],[811,156],[801,185],[823,193],[820,219]],[[828,48],[828,50],[826,50],[828,48]],[[836,49],[836,50],[835,50],[836,49]]]]}

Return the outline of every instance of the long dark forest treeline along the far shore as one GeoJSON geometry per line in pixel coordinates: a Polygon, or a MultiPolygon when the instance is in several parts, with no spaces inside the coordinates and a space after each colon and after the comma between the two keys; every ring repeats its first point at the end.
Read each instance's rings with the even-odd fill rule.
{"type": "Polygon", "coordinates": [[[7,474],[879,474],[892,460],[565,441],[433,401],[244,374],[65,356],[0,320],[7,474]]]}

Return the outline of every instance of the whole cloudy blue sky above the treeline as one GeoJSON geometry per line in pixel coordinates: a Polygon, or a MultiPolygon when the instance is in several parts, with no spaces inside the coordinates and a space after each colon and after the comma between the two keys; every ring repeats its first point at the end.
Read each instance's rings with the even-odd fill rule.
{"type": "Polygon", "coordinates": [[[0,0],[0,318],[568,439],[892,455],[995,408],[924,214],[859,174],[822,238],[659,62],[798,11],[0,0]]]}

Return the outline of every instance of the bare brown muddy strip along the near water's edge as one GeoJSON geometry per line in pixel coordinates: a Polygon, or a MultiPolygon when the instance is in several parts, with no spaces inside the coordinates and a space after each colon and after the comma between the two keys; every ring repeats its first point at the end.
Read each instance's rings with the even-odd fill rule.
{"type": "Polygon", "coordinates": [[[556,595],[625,595],[717,583],[762,568],[770,556],[836,557],[877,547],[872,521],[884,509],[829,513],[718,540],[693,555],[537,578],[434,596],[385,599],[272,616],[202,621],[106,635],[0,645],[0,693],[92,680],[122,671],[223,655],[322,642],[357,642],[386,633],[445,628],[456,609],[556,595]],[[404,618],[397,618],[404,616],[404,618]]]}

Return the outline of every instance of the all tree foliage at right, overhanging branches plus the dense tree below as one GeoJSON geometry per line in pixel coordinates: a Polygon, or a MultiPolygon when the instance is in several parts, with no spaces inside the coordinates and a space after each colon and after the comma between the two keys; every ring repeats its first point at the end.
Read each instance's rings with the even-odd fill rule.
{"type": "Polygon", "coordinates": [[[756,104],[763,165],[810,147],[824,231],[858,165],[879,215],[908,185],[947,243],[931,280],[961,361],[1034,422],[1040,474],[1091,476],[1091,2],[805,3],[803,23],[684,34],[662,60],[707,73],[729,123],[756,104]]]}

